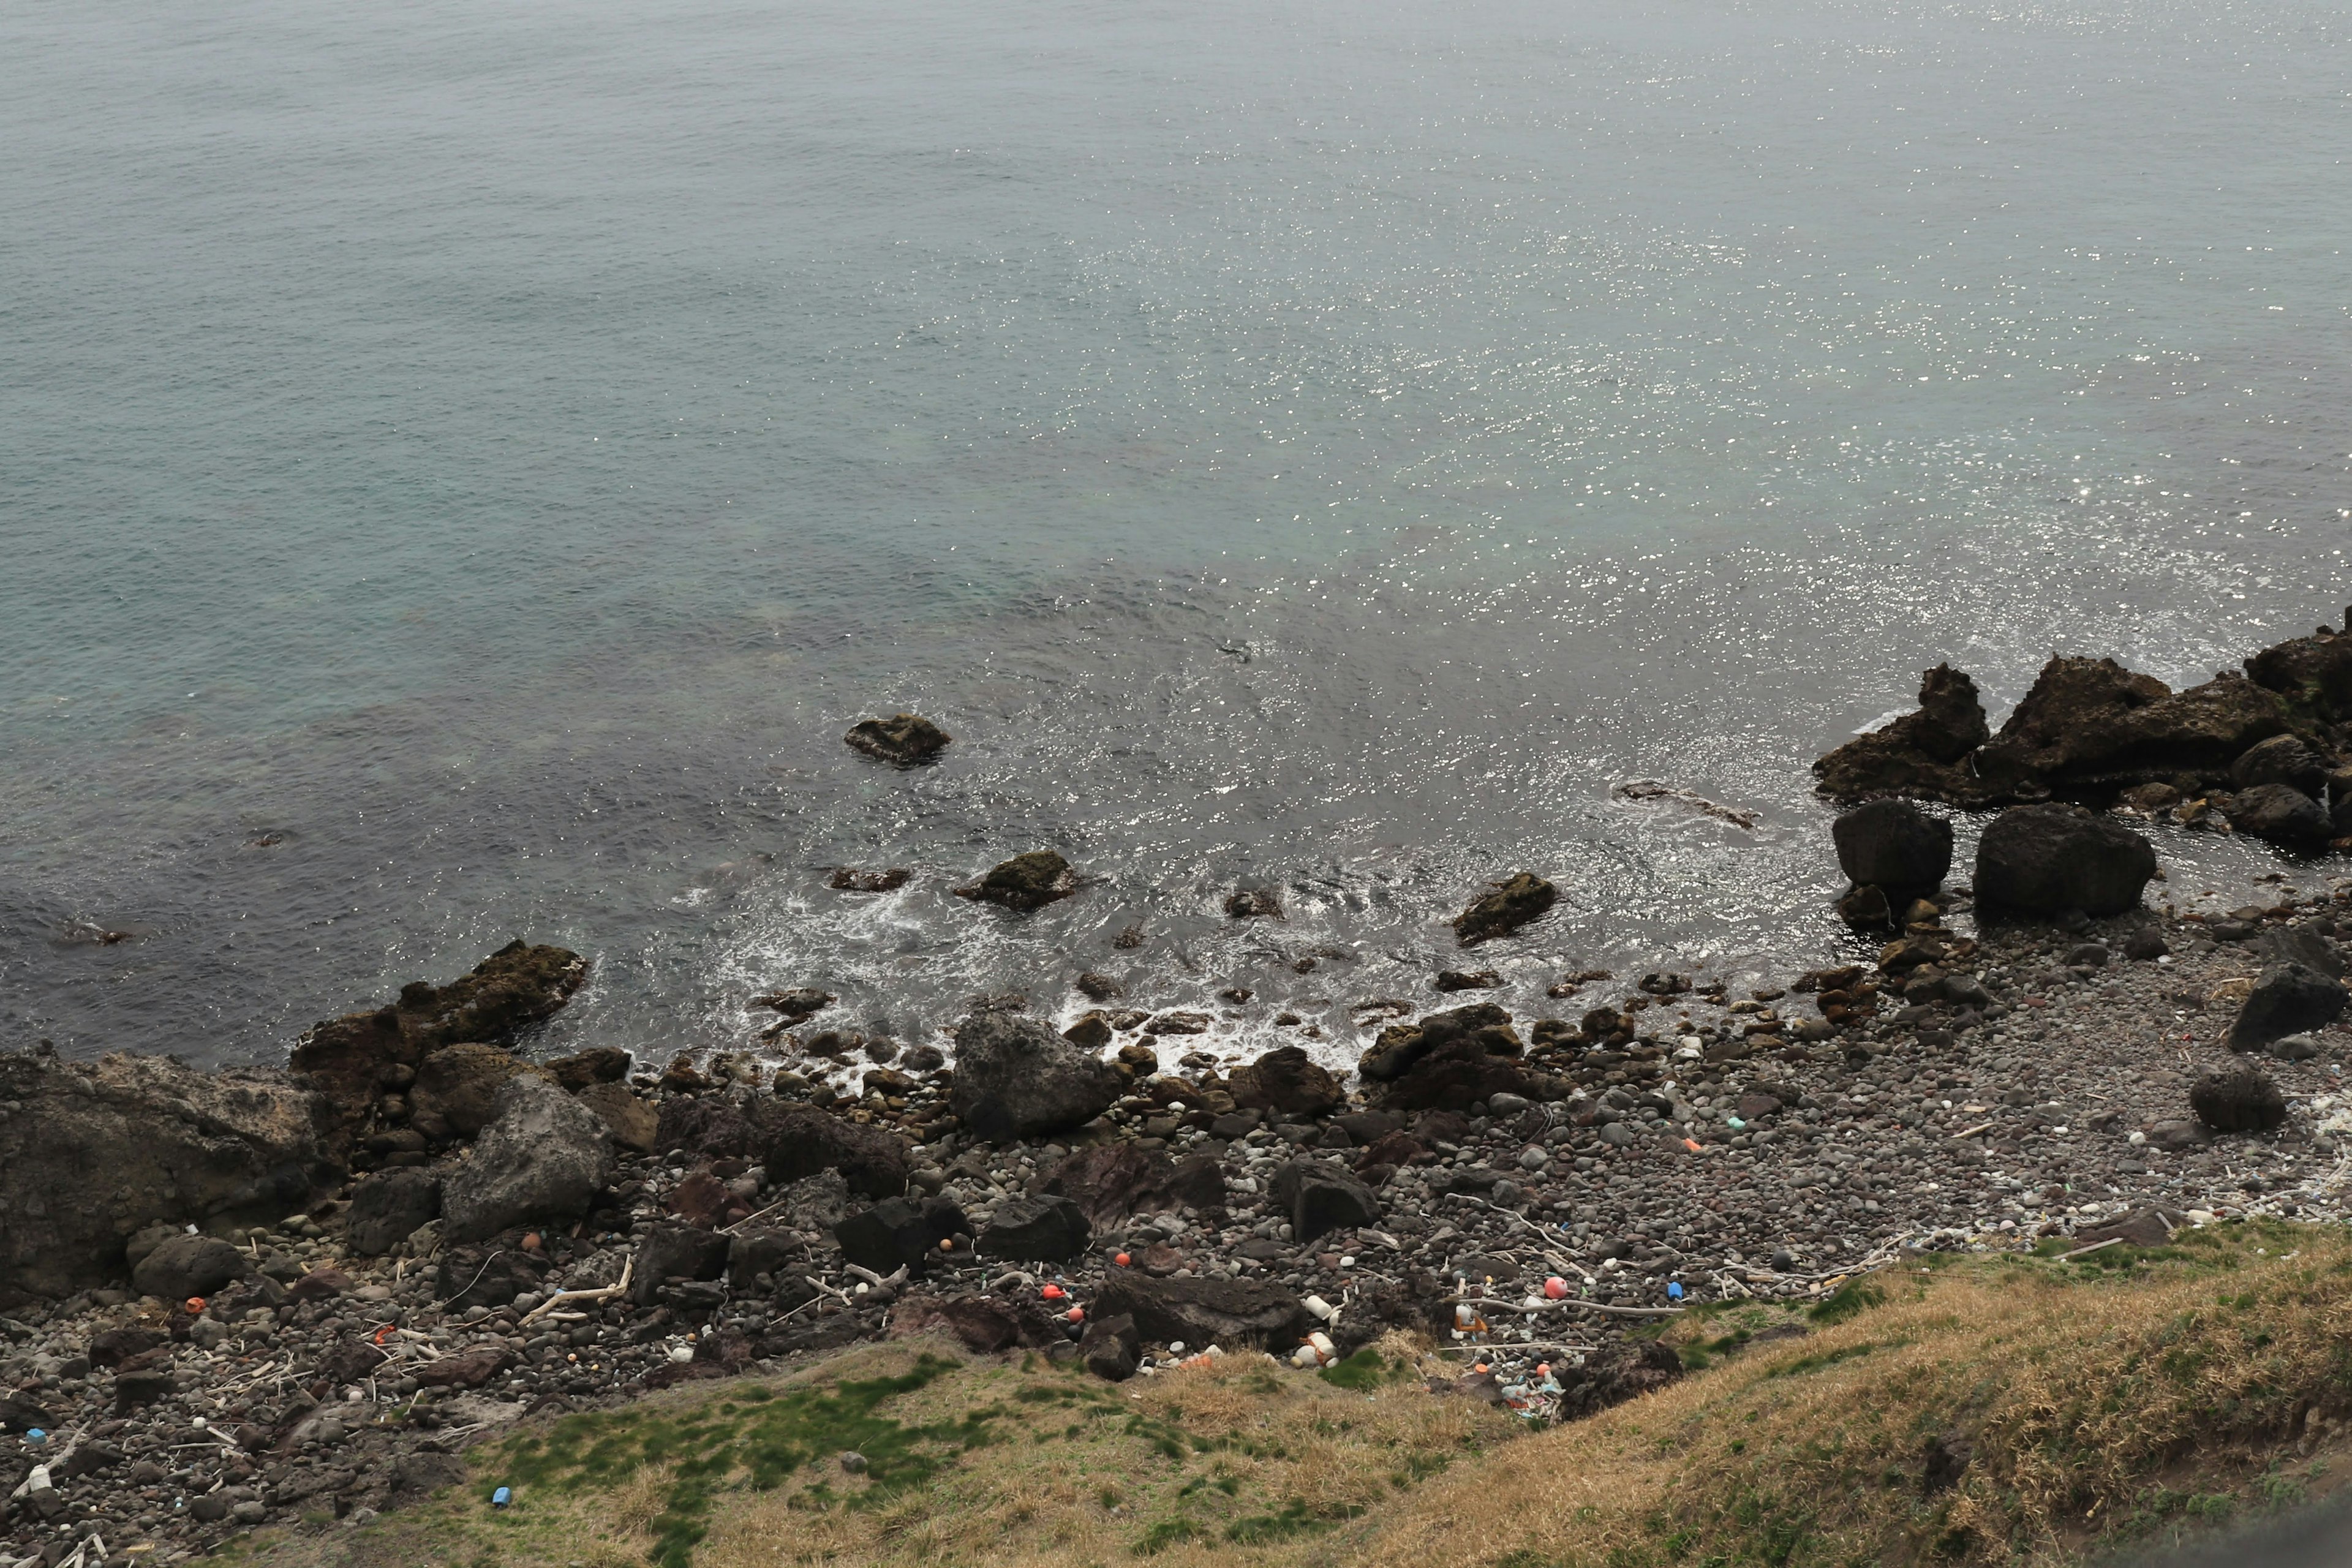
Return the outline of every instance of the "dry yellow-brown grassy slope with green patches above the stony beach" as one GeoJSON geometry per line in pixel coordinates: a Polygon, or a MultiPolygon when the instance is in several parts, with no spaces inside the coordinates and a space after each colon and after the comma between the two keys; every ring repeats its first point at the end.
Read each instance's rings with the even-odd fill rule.
{"type": "Polygon", "coordinates": [[[2216,1227],[2077,1262],[1947,1258],[1755,1338],[1677,1321],[1703,1371],[1597,1420],[1508,1415],[1385,1371],[1228,1359],[1105,1387],[931,1342],[689,1385],[473,1450],[477,1486],[254,1540],[285,1568],[779,1563],[2070,1561],[2326,1488],[2352,1410],[2352,1237],[2216,1227]],[[1931,1441],[1966,1450],[1924,1483],[1931,1441]],[[866,1455],[847,1474],[837,1455],[866,1455]],[[513,1509],[487,1490],[513,1483],[513,1509]]]}

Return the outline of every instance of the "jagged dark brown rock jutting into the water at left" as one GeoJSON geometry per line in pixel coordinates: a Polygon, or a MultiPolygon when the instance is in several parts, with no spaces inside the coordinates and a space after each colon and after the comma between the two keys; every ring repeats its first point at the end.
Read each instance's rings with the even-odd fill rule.
{"type": "Polygon", "coordinates": [[[358,1135],[376,1119],[388,1088],[426,1056],[456,1044],[496,1044],[555,1013],[588,978],[588,959],[567,947],[508,943],[449,985],[409,980],[400,999],[310,1027],[292,1070],[332,1107],[332,1133],[358,1135]]]}

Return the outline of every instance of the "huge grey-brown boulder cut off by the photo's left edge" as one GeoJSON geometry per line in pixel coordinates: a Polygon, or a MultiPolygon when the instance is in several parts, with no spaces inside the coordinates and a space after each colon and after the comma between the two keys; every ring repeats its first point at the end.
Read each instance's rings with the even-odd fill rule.
{"type": "Polygon", "coordinates": [[[341,1180],[315,1093],[162,1056],[0,1053],[0,1312],[122,1276],[165,1225],[268,1225],[341,1180]]]}

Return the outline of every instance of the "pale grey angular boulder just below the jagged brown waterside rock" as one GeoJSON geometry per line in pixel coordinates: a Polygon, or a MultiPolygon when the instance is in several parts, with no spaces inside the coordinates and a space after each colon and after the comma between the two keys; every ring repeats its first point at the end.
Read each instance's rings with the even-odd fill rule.
{"type": "Polygon", "coordinates": [[[510,1079],[473,1152],[442,1178],[442,1234],[480,1241],[527,1220],[579,1220],[612,1180],[604,1124],[555,1084],[510,1079]]]}

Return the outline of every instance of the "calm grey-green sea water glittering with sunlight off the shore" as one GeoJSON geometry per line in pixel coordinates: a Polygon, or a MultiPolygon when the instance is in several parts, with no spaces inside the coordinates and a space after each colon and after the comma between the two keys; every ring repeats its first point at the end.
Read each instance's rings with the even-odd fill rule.
{"type": "Polygon", "coordinates": [[[1806,764],[1924,665],[2343,618],[2345,31],[0,0],[0,1041],[278,1060],[527,936],[546,1051],[1103,969],[1345,1060],[1517,867],[1515,1004],[1818,961],[1806,764]]]}

